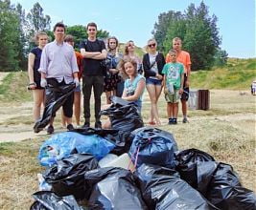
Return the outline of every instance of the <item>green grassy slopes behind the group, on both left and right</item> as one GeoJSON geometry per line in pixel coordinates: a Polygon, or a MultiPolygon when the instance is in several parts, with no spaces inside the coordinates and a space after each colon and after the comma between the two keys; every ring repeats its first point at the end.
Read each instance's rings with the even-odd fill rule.
{"type": "MultiPolygon", "coordinates": [[[[121,45],[123,52],[124,45],[121,45]]],[[[143,49],[136,48],[140,56],[143,49]]],[[[192,73],[192,89],[226,89],[249,90],[250,84],[256,80],[256,58],[229,58],[222,68],[192,73]]],[[[12,72],[0,83],[0,101],[28,101],[32,94],[26,89],[28,84],[27,72],[12,72]]]]}

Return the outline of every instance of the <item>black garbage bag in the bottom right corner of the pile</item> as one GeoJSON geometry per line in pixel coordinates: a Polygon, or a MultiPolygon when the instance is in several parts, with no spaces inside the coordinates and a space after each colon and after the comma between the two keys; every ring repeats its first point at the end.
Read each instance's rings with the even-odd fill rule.
{"type": "Polygon", "coordinates": [[[255,210],[255,194],[241,185],[232,166],[220,163],[208,187],[206,199],[224,210],[255,210]]]}

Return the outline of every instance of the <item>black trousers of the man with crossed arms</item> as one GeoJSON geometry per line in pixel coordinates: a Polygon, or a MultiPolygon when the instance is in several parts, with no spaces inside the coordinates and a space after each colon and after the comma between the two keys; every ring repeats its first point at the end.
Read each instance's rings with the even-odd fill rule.
{"type": "Polygon", "coordinates": [[[94,93],[94,111],[96,121],[100,120],[100,111],[102,106],[101,96],[104,92],[104,76],[103,75],[82,75],[82,94],[83,94],[83,116],[85,122],[90,120],[90,98],[91,90],[94,93]]]}

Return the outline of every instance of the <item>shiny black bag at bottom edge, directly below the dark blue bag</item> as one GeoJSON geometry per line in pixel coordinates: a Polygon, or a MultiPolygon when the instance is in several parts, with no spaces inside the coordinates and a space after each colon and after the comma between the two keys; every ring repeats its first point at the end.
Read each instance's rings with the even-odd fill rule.
{"type": "Polygon", "coordinates": [[[216,209],[173,169],[142,164],[136,172],[143,199],[151,210],[216,209]]]}

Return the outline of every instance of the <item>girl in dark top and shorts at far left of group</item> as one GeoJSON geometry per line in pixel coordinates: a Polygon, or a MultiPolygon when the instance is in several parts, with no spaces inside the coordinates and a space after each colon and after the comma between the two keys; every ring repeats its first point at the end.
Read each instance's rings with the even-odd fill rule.
{"type": "Polygon", "coordinates": [[[34,97],[33,115],[35,121],[40,118],[41,106],[44,104],[44,88],[40,86],[41,75],[37,71],[40,67],[41,53],[44,46],[48,43],[48,35],[45,32],[38,32],[35,35],[35,43],[38,45],[29,53],[28,73],[29,90],[32,90],[34,97]]]}

